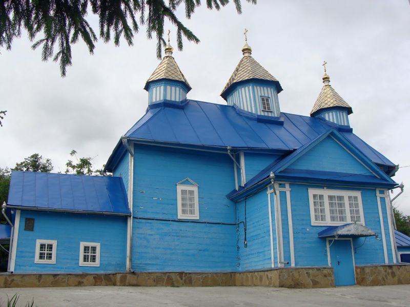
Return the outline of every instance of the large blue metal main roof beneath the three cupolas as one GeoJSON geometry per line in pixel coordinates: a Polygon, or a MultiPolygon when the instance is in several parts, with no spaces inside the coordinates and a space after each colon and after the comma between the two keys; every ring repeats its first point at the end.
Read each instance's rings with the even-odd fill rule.
{"type": "MultiPolygon", "coordinates": [[[[267,117],[267,116],[265,116],[267,117]]],[[[330,129],[337,129],[374,163],[391,171],[395,165],[352,133],[352,129],[320,118],[281,113],[280,118],[260,118],[236,106],[187,99],[164,100],[150,105],[147,113],[125,134],[130,139],[174,144],[232,147],[236,149],[294,151],[330,129]]],[[[115,167],[125,150],[117,144],[107,162],[115,167]]]]}

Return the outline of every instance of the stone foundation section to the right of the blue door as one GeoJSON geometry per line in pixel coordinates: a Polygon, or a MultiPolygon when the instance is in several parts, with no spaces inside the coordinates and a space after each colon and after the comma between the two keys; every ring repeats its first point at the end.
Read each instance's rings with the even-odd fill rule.
{"type": "Polygon", "coordinates": [[[410,265],[360,265],[355,272],[359,285],[410,283],[410,265]]]}

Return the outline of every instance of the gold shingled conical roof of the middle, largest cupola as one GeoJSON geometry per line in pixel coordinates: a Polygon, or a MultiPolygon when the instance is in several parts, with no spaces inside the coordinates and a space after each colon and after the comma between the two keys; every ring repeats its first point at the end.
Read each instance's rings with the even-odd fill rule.
{"type": "Polygon", "coordinates": [[[279,81],[266,69],[264,69],[252,56],[247,55],[242,57],[236,66],[234,72],[228,80],[228,83],[223,88],[221,96],[226,98],[228,89],[237,82],[249,80],[249,79],[260,79],[274,81],[278,87],[278,93],[282,91],[279,81]]]}

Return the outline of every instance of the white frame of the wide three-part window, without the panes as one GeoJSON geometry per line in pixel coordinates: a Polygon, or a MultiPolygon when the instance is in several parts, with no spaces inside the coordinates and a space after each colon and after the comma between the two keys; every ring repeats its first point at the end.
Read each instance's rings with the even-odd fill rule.
{"type": "Polygon", "coordinates": [[[350,208],[348,202],[348,196],[357,196],[359,202],[360,211],[360,222],[364,226],[364,215],[363,215],[363,203],[360,191],[349,191],[349,190],[330,190],[330,189],[308,189],[309,191],[309,205],[311,211],[311,224],[312,226],[340,226],[347,223],[353,223],[350,215],[350,208]],[[324,195],[324,209],[325,209],[325,221],[315,220],[315,210],[313,202],[313,194],[324,195]],[[329,208],[329,195],[344,196],[345,210],[346,210],[346,221],[331,221],[330,220],[330,208],[329,208]]]}

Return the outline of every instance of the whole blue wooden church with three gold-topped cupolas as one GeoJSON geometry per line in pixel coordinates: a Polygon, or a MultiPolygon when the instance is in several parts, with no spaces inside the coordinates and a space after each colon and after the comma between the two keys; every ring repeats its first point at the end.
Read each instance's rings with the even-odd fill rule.
{"type": "Polygon", "coordinates": [[[310,116],[283,113],[279,81],[248,43],[242,53],[220,105],[187,98],[168,42],[146,114],[108,159],[112,177],[13,172],[10,271],[333,267],[348,285],[355,266],[399,262],[398,166],[353,133],[326,70],[310,116]]]}

